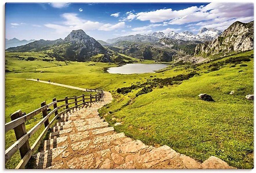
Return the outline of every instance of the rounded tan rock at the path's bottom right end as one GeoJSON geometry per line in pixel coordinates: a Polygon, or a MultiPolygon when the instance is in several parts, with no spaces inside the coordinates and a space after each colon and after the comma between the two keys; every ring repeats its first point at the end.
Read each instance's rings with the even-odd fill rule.
{"type": "Polygon", "coordinates": [[[211,156],[199,166],[200,169],[232,169],[226,162],[218,157],[211,156]]]}

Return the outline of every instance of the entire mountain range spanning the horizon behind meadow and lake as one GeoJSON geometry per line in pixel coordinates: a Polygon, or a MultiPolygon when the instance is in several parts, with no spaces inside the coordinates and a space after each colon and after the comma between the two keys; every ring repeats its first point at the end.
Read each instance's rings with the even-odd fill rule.
{"type": "MultiPolygon", "coordinates": [[[[65,39],[38,40],[7,52],[44,52],[59,61],[127,62],[127,57],[158,62],[190,61],[197,57],[251,50],[254,48],[254,22],[235,22],[223,33],[202,28],[198,34],[154,32],[96,41],[83,30],[73,30],[65,39]],[[209,41],[206,41],[209,40],[209,41]]],[[[128,61],[132,61],[129,59],[128,61]]]]}

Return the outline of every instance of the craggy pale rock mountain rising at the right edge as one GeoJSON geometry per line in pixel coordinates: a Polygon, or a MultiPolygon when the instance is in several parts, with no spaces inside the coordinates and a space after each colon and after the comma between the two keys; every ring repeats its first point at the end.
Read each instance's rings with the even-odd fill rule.
{"type": "Polygon", "coordinates": [[[213,41],[198,44],[196,56],[227,55],[230,52],[254,49],[254,21],[249,23],[234,22],[218,38],[213,41]]]}

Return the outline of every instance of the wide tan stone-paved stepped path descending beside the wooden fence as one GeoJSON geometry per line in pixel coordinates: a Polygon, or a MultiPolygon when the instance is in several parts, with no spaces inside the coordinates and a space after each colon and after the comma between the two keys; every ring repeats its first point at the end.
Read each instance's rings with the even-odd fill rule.
{"type": "Polygon", "coordinates": [[[104,101],[88,108],[63,114],[51,128],[49,139],[42,142],[42,151],[33,155],[37,169],[231,169],[217,157],[203,163],[177,153],[169,146],[155,148],[140,140],[132,140],[101,119],[97,110],[110,103],[104,101]]]}

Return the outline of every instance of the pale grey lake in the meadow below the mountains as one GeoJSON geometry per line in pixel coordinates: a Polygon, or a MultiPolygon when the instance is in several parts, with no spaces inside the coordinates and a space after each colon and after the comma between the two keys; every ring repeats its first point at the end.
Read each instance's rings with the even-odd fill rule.
{"type": "Polygon", "coordinates": [[[110,67],[107,69],[108,73],[112,74],[142,74],[154,73],[156,70],[167,67],[167,64],[126,64],[120,67],[110,67]]]}

